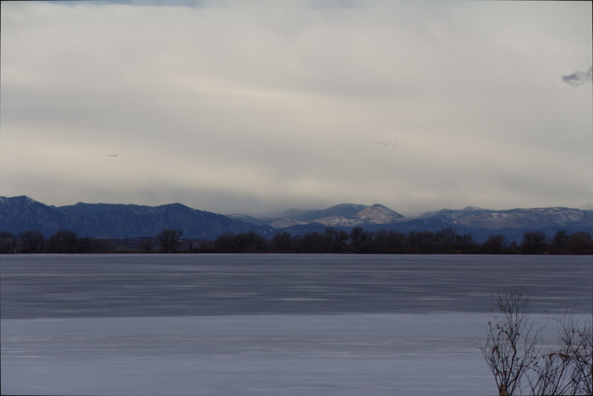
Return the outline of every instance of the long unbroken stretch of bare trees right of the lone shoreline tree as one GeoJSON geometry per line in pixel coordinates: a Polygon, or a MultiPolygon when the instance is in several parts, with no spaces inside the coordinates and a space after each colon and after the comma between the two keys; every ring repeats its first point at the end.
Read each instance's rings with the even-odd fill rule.
{"type": "Polygon", "coordinates": [[[410,231],[407,234],[381,229],[365,231],[354,227],[348,233],[327,227],[323,232],[291,236],[280,231],[266,239],[253,231],[226,233],[215,241],[205,242],[193,253],[359,253],[359,254],[593,254],[589,232],[558,231],[553,238],[537,231],[527,231],[522,241],[509,242],[500,235],[490,235],[482,244],[471,234],[452,228],[436,232],[410,231]]]}

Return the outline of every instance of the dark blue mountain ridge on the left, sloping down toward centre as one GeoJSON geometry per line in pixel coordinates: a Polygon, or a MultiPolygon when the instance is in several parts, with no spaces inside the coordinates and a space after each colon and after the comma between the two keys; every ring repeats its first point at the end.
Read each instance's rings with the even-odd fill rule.
{"type": "Polygon", "coordinates": [[[224,215],[192,209],[180,203],[160,206],[82,203],[51,207],[28,197],[0,197],[0,229],[18,233],[37,229],[49,236],[59,229],[107,238],[154,237],[164,228],[181,229],[183,237],[213,239],[224,232],[273,229],[237,221],[224,215]]]}

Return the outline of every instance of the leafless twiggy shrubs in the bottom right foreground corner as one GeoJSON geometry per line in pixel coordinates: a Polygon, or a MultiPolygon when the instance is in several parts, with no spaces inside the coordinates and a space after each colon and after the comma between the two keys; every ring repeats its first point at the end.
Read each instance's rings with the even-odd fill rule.
{"type": "MultiPolygon", "coordinates": [[[[493,296],[494,297],[494,296],[493,296]]],[[[556,346],[543,340],[546,325],[534,328],[529,296],[519,290],[497,290],[493,304],[500,313],[488,322],[482,355],[492,371],[499,395],[591,395],[593,360],[591,315],[575,320],[568,311],[556,322],[556,346]]]]}

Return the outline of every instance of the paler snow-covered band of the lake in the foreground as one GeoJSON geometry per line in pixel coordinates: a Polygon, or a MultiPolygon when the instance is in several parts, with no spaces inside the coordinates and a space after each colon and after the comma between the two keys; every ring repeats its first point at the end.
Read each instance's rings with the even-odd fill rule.
{"type": "Polygon", "coordinates": [[[492,315],[1,321],[2,394],[488,395],[492,315]]]}

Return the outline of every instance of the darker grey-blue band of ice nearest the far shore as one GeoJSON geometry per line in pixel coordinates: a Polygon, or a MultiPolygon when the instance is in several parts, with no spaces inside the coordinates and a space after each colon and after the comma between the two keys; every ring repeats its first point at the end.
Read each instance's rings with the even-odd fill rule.
{"type": "Polygon", "coordinates": [[[497,289],[534,312],[593,309],[585,256],[12,255],[2,319],[484,312],[497,289]]]}

